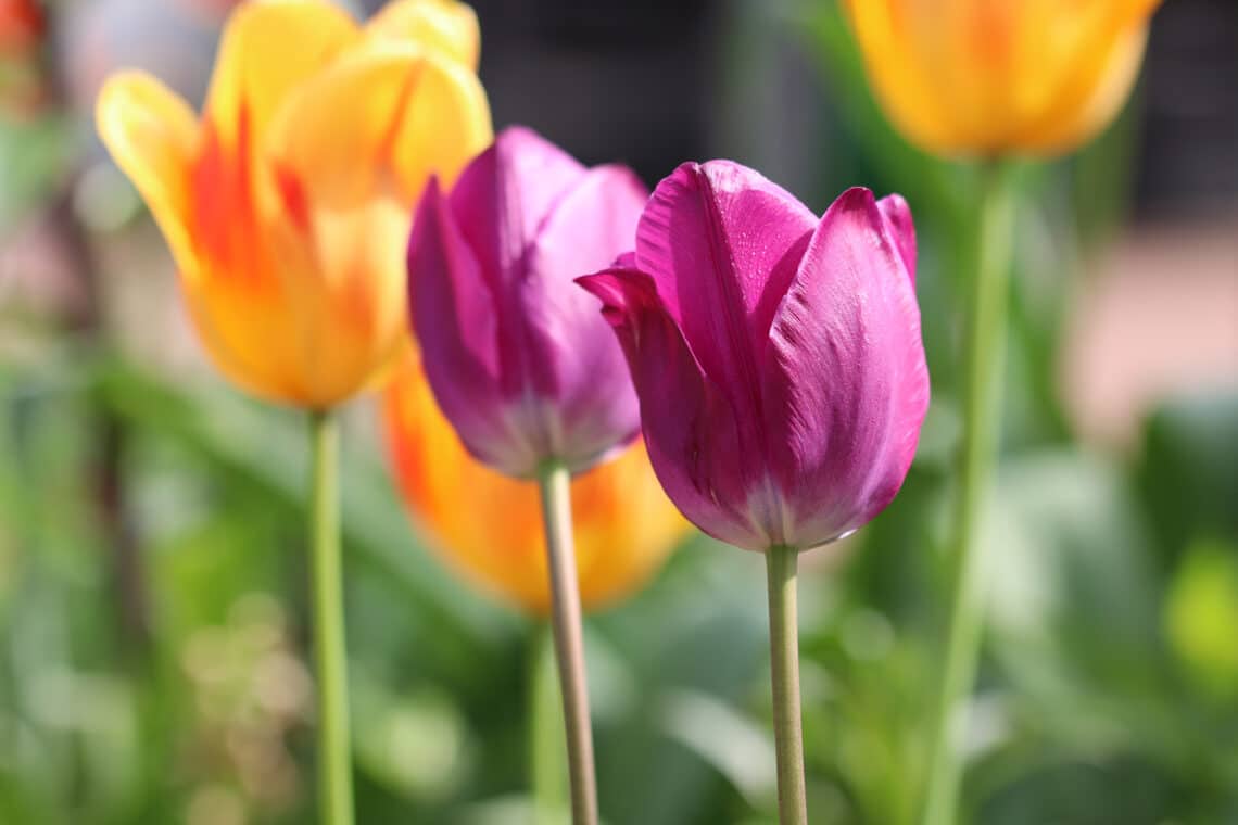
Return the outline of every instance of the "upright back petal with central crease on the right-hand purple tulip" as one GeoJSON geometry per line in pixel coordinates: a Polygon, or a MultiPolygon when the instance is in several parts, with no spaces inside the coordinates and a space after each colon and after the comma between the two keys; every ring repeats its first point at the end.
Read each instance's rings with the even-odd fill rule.
{"type": "Polygon", "coordinates": [[[730,161],[685,163],[659,183],[636,230],[636,266],[706,375],[755,421],[756,365],[816,216],[730,161]],[[691,312],[685,307],[693,307],[691,312]]]}

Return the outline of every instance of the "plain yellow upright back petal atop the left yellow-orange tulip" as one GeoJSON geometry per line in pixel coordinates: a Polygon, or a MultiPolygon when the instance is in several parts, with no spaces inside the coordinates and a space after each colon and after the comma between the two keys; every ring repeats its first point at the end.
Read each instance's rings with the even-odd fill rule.
{"type": "Polygon", "coordinates": [[[360,37],[357,24],[326,0],[251,0],[224,27],[206,116],[227,146],[241,120],[258,141],[287,94],[360,37]]]}

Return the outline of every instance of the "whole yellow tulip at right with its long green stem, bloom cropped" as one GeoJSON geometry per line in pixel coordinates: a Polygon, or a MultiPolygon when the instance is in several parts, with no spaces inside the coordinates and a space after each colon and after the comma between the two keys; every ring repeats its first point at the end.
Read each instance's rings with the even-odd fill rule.
{"type": "Polygon", "coordinates": [[[1014,155],[1094,137],[1139,73],[1159,0],[843,0],[877,99],[910,142],[982,158],[962,357],[963,435],[950,631],[927,758],[924,825],[953,825],[962,779],[954,720],[976,682],[985,548],[979,518],[998,463],[1015,204],[1014,155]]]}

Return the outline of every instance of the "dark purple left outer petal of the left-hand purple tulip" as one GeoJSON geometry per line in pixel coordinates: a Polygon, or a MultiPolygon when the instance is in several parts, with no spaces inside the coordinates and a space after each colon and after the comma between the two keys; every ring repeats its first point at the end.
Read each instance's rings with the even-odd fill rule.
{"type": "Polygon", "coordinates": [[[426,377],[464,447],[496,466],[522,461],[501,414],[491,293],[436,179],[409,240],[409,294],[426,377]]]}

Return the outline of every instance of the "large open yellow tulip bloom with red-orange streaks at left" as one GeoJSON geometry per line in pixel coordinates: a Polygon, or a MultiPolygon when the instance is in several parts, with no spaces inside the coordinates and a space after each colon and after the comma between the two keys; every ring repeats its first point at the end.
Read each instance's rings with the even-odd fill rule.
{"type": "Polygon", "coordinates": [[[477,53],[477,19],[451,0],[392,2],[364,27],[326,0],[251,0],[201,121],[147,74],[108,79],[99,134],[234,382],[323,409],[407,356],[412,204],[491,139],[477,53]]]}

